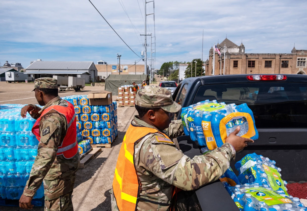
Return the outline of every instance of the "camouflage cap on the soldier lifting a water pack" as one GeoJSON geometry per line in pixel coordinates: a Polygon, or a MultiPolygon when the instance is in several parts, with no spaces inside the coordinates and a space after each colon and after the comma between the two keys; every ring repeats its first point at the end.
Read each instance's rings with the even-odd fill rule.
{"type": "Polygon", "coordinates": [[[181,109],[181,105],[173,101],[172,93],[160,86],[142,86],[136,94],[135,105],[146,108],[160,107],[170,113],[181,109]]]}

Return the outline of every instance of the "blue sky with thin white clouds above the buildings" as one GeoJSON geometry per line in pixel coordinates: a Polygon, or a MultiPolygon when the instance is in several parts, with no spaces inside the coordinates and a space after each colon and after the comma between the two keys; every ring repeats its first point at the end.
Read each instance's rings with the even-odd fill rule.
{"type": "MultiPolygon", "coordinates": [[[[106,20],[138,54],[144,42],[144,1],[92,0],[106,20]],[[139,9],[138,2],[142,11],[139,9]],[[122,9],[123,4],[130,20],[122,9]]],[[[138,57],[116,36],[88,0],[0,1],[0,62],[20,62],[27,67],[43,61],[93,61],[130,64],[138,57]]],[[[147,13],[152,13],[152,3],[147,13]]],[[[307,49],[307,2],[260,0],[156,0],[156,67],[168,61],[201,58],[204,29],[204,60],[214,42],[226,34],[241,40],[248,53],[291,53],[307,49]]],[[[153,17],[148,32],[153,33],[153,17]]],[[[150,43],[150,37],[147,38],[150,43]]],[[[148,49],[150,56],[150,49],[148,49]]],[[[138,64],[144,64],[140,61],[138,64]]]]}

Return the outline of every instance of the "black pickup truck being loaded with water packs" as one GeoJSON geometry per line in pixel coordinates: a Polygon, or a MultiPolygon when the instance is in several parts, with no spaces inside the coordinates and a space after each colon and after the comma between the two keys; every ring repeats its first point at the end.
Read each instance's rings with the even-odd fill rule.
{"type": "MultiPolygon", "coordinates": [[[[190,77],[178,84],[173,100],[182,107],[203,100],[226,104],[246,103],[253,111],[259,138],[236,154],[234,164],[248,153],[262,154],[276,161],[287,182],[307,181],[307,76],[306,75],[218,75],[190,77]]],[[[180,119],[181,111],[174,114],[180,119]]],[[[197,141],[177,138],[189,157],[200,155],[197,141]]],[[[202,210],[238,210],[217,180],[196,191],[202,210]]]]}

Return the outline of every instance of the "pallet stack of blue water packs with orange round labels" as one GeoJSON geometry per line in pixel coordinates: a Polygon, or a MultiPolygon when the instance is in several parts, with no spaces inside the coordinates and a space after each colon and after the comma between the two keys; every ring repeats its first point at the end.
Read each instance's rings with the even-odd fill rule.
{"type": "Polygon", "coordinates": [[[117,137],[117,104],[89,105],[86,95],[63,97],[75,107],[77,140],[80,154],[91,149],[90,144],[111,144],[117,137]]]}

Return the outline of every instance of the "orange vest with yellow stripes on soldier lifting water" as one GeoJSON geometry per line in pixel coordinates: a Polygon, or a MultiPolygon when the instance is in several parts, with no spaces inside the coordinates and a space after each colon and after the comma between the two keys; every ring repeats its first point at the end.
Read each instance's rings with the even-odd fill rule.
{"type": "MultiPolygon", "coordinates": [[[[134,145],[153,133],[160,133],[165,138],[169,138],[156,129],[134,126],[131,123],[122,141],[113,179],[113,192],[120,211],[134,211],[137,208],[140,196],[138,175],[134,167],[134,145]]],[[[146,202],[148,201],[146,199],[146,202]]]]}

